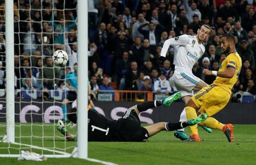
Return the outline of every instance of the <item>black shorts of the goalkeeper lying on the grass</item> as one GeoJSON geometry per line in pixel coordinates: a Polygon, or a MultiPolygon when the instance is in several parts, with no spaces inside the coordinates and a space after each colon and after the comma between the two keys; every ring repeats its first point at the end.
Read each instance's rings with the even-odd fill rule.
{"type": "Polygon", "coordinates": [[[121,120],[121,138],[126,142],[145,142],[148,140],[148,131],[140,126],[140,119],[135,110],[129,109],[121,120]]]}

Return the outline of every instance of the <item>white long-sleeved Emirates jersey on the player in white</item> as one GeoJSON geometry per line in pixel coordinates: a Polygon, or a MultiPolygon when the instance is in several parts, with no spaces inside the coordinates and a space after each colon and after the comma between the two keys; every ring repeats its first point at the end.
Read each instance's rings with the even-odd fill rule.
{"type": "Polygon", "coordinates": [[[167,39],[161,50],[161,56],[166,57],[169,46],[178,46],[176,55],[176,71],[192,72],[192,68],[205,52],[205,46],[198,44],[197,38],[190,35],[181,35],[167,39]]]}

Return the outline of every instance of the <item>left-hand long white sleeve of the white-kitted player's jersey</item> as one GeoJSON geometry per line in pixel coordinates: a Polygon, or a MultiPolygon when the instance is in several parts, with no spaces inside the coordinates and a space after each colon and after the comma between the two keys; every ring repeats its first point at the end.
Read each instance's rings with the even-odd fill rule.
{"type": "Polygon", "coordinates": [[[164,41],[163,48],[161,50],[161,56],[166,57],[166,52],[169,49],[169,46],[182,46],[186,45],[189,42],[189,36],[184,34],[177,36],[175,38],[167,39],[164,41]]]}

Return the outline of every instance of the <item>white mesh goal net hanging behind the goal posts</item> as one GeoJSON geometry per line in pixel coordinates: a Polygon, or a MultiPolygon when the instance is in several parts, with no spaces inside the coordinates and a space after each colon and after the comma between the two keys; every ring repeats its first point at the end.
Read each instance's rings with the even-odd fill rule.
{"type": "MultiPolygon", "coordinates": [[[[15,137],[7,143],[6,4],[0,4],[0,155],[33,151],[52,157],[70,156],[77,145],[56,129],[67,125],[67,110],[77,91],[77,1],[14,1],[15,137]],[[53,52],[61,49],[69,63],[54,65],[53,52]],[[75,67],[74,67],[75,66],[75,67]],[[73,74],[72,74],[73,73],[73,74]],[[72,76],[70,76],[72,74],[72,76]]],[[[76,134],[76,127],[67,129],[76,134]]]]}

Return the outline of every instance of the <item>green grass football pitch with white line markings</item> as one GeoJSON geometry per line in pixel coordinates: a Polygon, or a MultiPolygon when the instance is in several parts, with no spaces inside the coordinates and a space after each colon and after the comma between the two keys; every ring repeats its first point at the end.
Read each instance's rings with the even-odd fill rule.
{"type": "MultiPolygon", "coordinates": [[[[1,124],[1,126],[3,126],[1,124]]],[[[75,129],[70,130],[75,133],[75,129]]],[[[189,131],[189,129],[187,129],[189,131]]],[[[0,127],[0,135],[5,132],[0,127]]],[[[56,147],[71,152],[75,142],[65,142],[61,134],[53,125],[41,126],[40,123],[22,124],[15,127],[16,142],[43,146],[56,147]],[[20,129],[21,128],[21,129],[20,129]],[[21,132],[20,132],[21,130],[21,132]],[[32,130],[32,131],[31,131],[32,130]],[[58,137],[53,137],[55,134],[58,137]],[[33,136],[30,137],[30,132],[33,136]],[[44,136],[44,138],[42,138],[44,136]]],[[[181,142],[173,136],[173,132],[161,132],[151,137],[149,142],[89,142],[89,158],[109,161],[116,164],[256,164],[256,125],[235,125],[235,142],[229,143],[221,131],[213,131],[209,134],[199,130],[202,142],[181,142]]],[[[5,148],[6,143],[0,143],[0,153],[17,154],[19,150],[5,148]]],[[[16,147],[11,145],[11,147],[16,147]]],[[[23,148],[23,150],[30,150],[23,148]]],[[[39,150],[32,150],[41,153],[39,150]]],[[[52,154],[44,151],[44,154],[52,154]]],[[[49,158],[47,161],[17,161],[17,158],[0,158],[4,164],[97,164],[76,158],[49,158]]]]}

